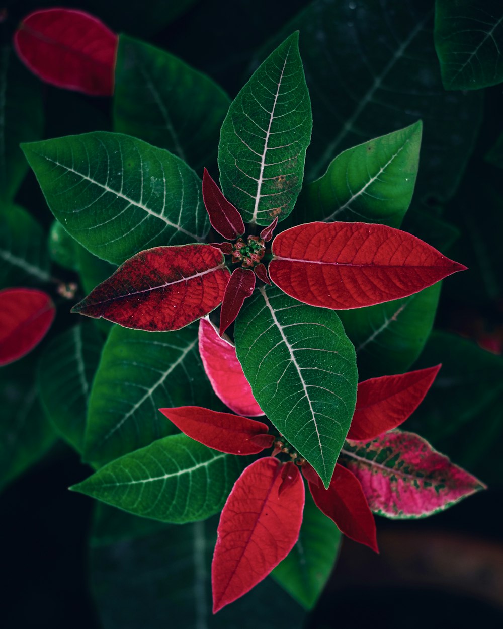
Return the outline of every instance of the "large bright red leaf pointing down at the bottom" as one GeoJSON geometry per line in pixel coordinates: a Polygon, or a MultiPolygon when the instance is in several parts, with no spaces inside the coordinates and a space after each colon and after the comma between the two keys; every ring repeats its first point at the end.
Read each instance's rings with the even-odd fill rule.
{"type": "Polygon", "coordinates": [[[211,566],[213,613],[250,591],[297,542],[304,509],[301,475],[281,495],[282,465],[266,457],[246,467],[220,517],[211,566]]]}

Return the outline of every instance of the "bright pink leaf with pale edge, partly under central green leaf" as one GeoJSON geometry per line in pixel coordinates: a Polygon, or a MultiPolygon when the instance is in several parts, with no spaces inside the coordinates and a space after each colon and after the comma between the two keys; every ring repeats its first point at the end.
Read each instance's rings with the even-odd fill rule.
{"type": "Polygon", "coordinates": [[[224,340],[206,318],[199,320],[199,354],[213,391],[238,415],[263,415],[252,387],[236,358],[236,348],[224,340]]]}

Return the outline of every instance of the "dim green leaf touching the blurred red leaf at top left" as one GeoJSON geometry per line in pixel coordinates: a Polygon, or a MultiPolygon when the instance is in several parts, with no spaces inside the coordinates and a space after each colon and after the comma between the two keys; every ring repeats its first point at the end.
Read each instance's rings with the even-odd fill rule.
{"type": "Polygon", "coordinates": [[[216,160],[230,99],[179,58],[121,35],[115,66],[114,130],[167,148],[202,174],[216,160]]]}

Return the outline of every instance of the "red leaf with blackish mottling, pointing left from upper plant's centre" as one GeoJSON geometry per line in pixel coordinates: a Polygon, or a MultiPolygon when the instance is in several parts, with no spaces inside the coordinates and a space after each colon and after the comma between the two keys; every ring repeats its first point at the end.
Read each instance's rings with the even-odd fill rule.
{"type": "Polygon", "coordinates": [[[72,312],[126,328],[179,330],[221,303],[228,279],[211,245],[154,247],[126,260],[72,312]]]}

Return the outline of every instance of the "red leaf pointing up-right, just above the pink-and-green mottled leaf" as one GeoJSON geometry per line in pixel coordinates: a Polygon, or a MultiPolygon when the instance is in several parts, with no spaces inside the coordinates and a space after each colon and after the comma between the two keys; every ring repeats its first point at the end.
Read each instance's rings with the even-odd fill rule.
{"type": "Polygon", "coordinates": [[[374,439],[401,425],[423,401],[440,367],[360,382],[348,439],[374,439]]]}

